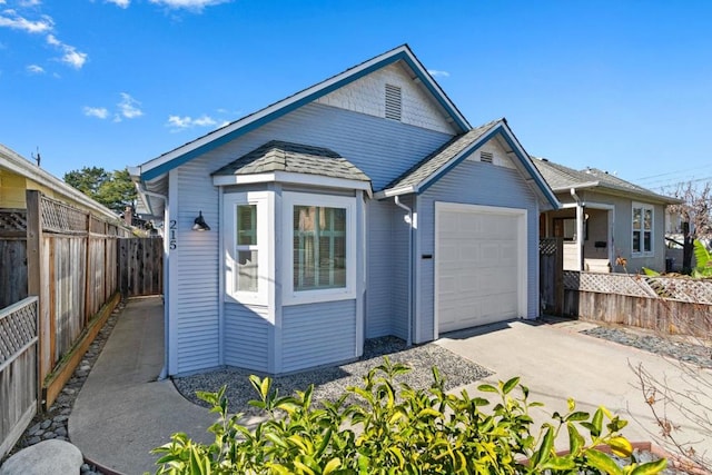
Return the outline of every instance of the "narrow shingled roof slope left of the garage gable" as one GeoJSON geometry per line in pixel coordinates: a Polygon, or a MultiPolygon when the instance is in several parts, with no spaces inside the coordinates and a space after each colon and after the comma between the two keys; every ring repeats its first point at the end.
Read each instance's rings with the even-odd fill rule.
{"type": "Polygon", "coordinates": [[[439,170],[442,167],[447,165],[447,162],[455,158],[459,152],[465,150],[490,130],[503,122],[504,119],[493,120],[492,122],[485,123],[484,126],[471,129],[462,136],[455,137],[443,147],[438,148],[433,154],[428,155],[418,164],[413,166],[405,174],[400,175],[398,178],[389,182],[384,189],[388,190],[417,187],[424,180],[437,172],[437,170],[439,170]]]}

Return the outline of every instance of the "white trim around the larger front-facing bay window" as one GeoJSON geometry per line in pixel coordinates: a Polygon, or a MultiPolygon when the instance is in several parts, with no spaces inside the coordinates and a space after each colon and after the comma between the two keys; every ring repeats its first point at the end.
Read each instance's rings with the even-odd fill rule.
{"type": "Polygon", "coordinates": [[[313,304],[319,301],[356,298],[356,198],[330,195],[284,192],[283,194],[283,305],[313,304]],[[346,287],[317,290],[294,289],[294,207],[322,206],[346,209],[346,287]]]}

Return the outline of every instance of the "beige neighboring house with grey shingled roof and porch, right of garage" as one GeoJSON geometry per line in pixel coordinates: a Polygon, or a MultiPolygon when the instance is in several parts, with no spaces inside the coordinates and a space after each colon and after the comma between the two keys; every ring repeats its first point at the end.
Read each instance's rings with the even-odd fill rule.
{"type": "Polygon", "coordinates": [[[564,269],[665,270],[665,207],[681,200],[595,168],[580,171],[545,158],[534,164],[563,205],[542,215],[540,234],[564,238],[564,269]]]}

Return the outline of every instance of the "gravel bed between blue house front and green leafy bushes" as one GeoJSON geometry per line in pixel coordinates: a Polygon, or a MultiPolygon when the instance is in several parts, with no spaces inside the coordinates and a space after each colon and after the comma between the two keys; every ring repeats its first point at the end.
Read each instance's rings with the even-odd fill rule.
{"type": "MultiPolygon", "coordinates": [[[[348,386],[363,383],[368,372],[384,362],[388,356],[392,363],[403,363],[411,370],[397,378],[414,389],[428,388],[433,383],[432,367],[437,366],[446,380],[446,388],[452,389],[492,374],[488,369],[476,365],[435,344],[407,347],[405,342],[396,337],[383,337],[366,340],[364,356],[354,363],[340,366],[328,366],[304,373],[273,378],[273,387],[280,395],[291,395],[295,390],[305,390],[314,384],[314,402],[336,400],[348,386]]],[[[231,412],[246,415],[258,415],[258,409],[247,403],[257,398],[257,393],[248,377],[255,372],[241,369],[220,369],[182,378],[175,378],[174,384],[187,399],[207,406],[199,400],[196,390],[217,392],[227,386],[226,396],[231,412]]]]}

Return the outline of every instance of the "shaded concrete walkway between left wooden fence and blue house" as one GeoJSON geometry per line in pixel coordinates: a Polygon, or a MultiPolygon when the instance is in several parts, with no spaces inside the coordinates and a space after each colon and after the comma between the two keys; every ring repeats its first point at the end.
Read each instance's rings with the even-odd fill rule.
{"type": "Polygon", "coordinates": [[[69,417],[69,438],[85,458],[107,473],[156,472],[149,453],[185,432],[211,442],[215,414],[186,400],[170,380],[157,382],[164,366],[160,297],[131,299],[81,388],[69,417]]]}

